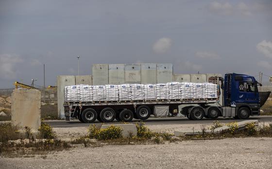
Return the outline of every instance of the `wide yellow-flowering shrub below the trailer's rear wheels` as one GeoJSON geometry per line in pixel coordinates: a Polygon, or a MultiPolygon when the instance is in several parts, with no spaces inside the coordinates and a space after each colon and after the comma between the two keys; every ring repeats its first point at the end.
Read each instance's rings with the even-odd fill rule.
{"type": "Polygon", "coordinates": [[[101,140],[117,139],[122,137],[122,129],[119,126],[110,125],[107,128],[97,128],[96,125],[90,125],[88,129],[89,138],[101,140]]]}

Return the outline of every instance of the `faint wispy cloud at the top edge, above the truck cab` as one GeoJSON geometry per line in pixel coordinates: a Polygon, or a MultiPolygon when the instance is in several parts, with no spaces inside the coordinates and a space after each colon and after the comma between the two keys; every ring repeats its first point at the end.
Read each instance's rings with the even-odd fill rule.
{"type": "Polygon", "coordinates": [[[220,3],[213,1],[209,5],[209,11],[218,15],[252,15],[251,8],[244,2],[233,5],[229,2],[220,3]]]}

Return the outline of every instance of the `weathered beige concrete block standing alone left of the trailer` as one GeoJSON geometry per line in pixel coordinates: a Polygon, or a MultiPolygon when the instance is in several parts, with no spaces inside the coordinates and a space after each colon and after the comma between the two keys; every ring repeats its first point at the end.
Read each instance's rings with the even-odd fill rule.
{"type": "Polygon", "coordinates": [[[14,89],[11,95],[11,123],[23,129],[37,131],[41,121],[41,92],[34,89],[14,89]]]}

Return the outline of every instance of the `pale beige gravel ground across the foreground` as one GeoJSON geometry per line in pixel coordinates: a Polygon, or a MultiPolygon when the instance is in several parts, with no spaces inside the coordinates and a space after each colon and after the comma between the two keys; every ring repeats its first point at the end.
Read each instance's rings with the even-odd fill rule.
{"type": "Polygon", "coordinates": [[[0,158],[0,169],[271,169],[272,138],[73,148],[46,158],[0,158]]]}

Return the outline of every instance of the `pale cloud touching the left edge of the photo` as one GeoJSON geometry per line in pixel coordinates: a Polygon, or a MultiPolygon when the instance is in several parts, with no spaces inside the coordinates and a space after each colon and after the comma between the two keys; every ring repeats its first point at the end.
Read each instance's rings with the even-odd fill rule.
{"type": "Polygon", "coordinates": [[[0,77],[5,79],[15,79],[17,77],[17,64],[23,60],[16,54],[0,55],[0,77]]]}

